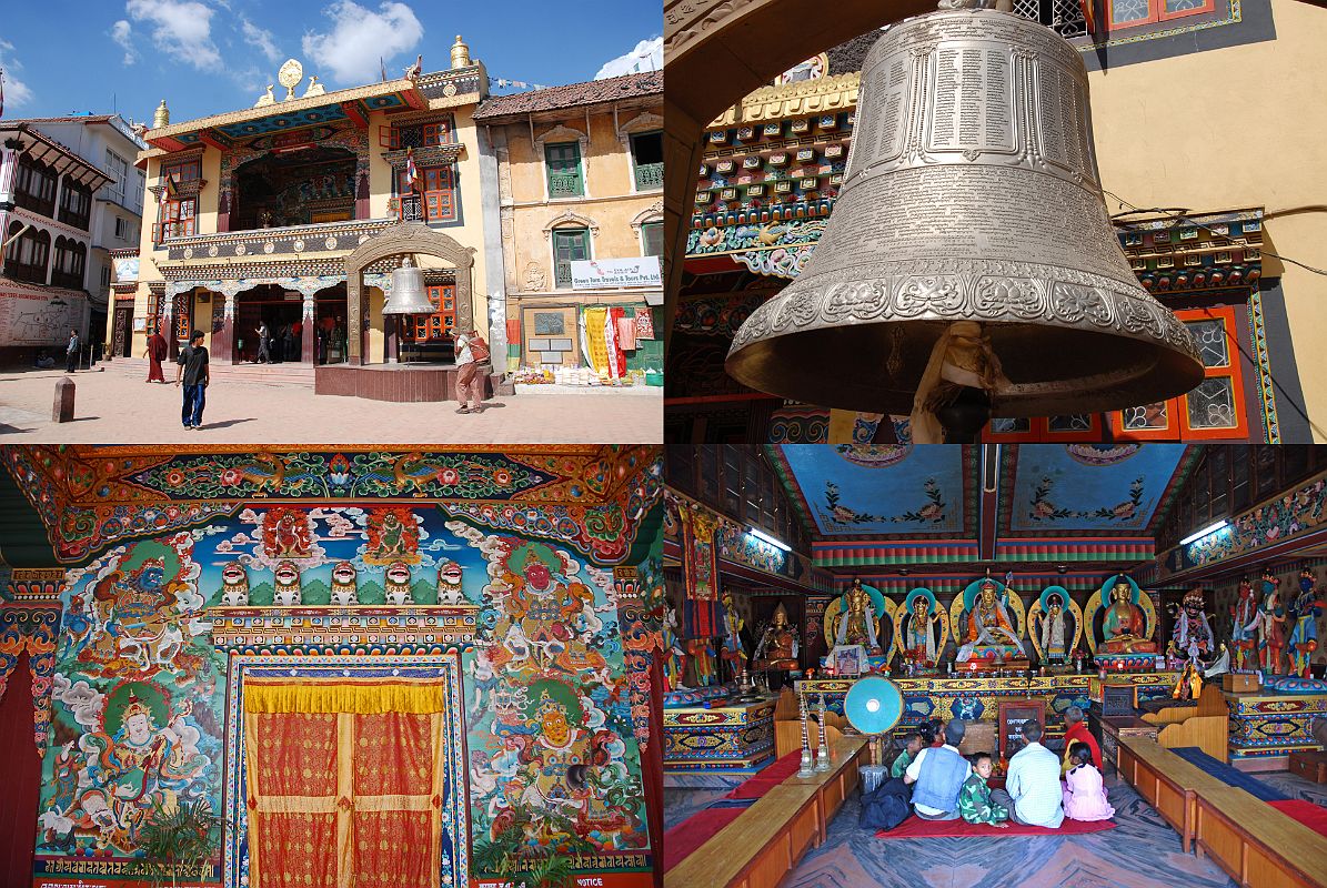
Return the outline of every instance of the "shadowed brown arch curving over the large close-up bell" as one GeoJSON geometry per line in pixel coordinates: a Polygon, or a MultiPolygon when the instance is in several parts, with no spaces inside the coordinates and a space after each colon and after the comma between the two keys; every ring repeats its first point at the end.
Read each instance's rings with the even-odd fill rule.
{"type": "Polygon", "coordinates": [[[666,0],[664,5],[665,342],[671,334],[686,255],[705,126],[747,93],[807,57],[890,21],[936,8],[934,0],[666,0]],[[795,23],[795,27],[791,27],[795,23]]]}

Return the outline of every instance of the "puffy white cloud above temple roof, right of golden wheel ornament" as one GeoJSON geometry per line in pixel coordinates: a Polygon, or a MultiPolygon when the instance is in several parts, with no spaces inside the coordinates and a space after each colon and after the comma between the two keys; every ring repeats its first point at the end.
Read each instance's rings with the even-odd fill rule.
{"type": "Polygon", "coordinates": [[[378,80],[378,58],[386,62],[423,38],[423,25],[403,3],[384,3],[372,12],[352,0],[337,0],[325,16],[332,31],[304,35],[304,54],[341,85],[378,80]]]}

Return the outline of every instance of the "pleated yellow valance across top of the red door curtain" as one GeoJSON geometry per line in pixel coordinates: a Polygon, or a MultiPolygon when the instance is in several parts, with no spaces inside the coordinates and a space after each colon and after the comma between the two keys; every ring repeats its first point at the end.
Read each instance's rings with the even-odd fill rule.
{"type": "Polygon", "coordinates": [[[311,684],[249,678],[244,682],[245,713],[441,713],[443,686],[413,681],[338,681],[311,684]]]}

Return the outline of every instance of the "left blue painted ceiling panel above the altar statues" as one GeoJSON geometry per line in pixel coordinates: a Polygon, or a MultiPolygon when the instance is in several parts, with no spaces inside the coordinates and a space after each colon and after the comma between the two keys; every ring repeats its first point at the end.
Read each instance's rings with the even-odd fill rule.
{"type": "Polygon", "coordinates": [[[962,447],[782,445],[780,450],[820,534],[963,530],[962,447]]]}

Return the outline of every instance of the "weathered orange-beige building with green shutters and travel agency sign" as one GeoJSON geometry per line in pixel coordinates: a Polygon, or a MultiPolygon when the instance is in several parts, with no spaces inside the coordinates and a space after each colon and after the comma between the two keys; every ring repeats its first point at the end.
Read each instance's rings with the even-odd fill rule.
{"type": "Polygon", "coordinates": [[[508,370],[662,370],[662,106],[652,72],[474,114],[498,166],[508,370]]]}

